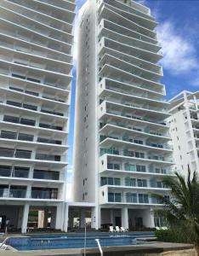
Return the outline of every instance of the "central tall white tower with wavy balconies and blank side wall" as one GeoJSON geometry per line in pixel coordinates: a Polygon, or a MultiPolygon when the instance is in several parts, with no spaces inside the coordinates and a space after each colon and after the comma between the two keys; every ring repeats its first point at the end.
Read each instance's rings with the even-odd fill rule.
{"type": "Polygon", "coordinates": [[[130,0],[88,0],[80,10],[73,195],[95,204],[96,229],[161,221],[150,195],[168,195],[173,151],[156,25],[130,0]]]}

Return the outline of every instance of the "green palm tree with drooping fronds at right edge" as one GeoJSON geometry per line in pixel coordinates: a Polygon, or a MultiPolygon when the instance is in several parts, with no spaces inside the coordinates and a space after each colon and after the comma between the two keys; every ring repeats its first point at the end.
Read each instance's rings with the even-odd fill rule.
{"type": "Polygon", "coordinates": [[[196,255],[199,255],[199,180],[196,172],[187,178],[174,172],[175,177],[165,177],[163,183],[171,189],[170,199],[164,195],[152,194],[157,201],[164,204],[162,210],[155,213],[166,219],[168,226],[174,230],[183,230],[185,236],[194,243],[196,255]]]}

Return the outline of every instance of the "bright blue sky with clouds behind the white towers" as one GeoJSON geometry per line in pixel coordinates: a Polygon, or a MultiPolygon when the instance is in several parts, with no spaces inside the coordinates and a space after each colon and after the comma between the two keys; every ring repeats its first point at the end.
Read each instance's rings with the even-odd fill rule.
{"type": "MultiPolygon", "coordinates": [[[[78,10],[85,2],[86,0],[77,0],[76,9],[67,199],[71,198],[78,10]]],[[[137,2],[149,7],[151,14],[159,23],[156,31],[162,44],[163,58],[160,63],[164,71],[162,84],[166,86],[166,98],[175,96],[181,90],[199,90],[199,0],[138,0],[137,2]]]]}

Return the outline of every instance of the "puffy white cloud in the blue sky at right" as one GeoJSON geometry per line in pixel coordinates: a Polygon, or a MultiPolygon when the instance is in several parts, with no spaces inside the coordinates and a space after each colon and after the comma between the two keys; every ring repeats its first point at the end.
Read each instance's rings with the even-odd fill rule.
{"type": "Polygon", "coordinates": [[[188,33],[179,34],[173,22],[165,21],[157,27],[157,34],[162,44],[162,66],[173,74],[190,73],[199,67],[193,41],[188,33]]]}

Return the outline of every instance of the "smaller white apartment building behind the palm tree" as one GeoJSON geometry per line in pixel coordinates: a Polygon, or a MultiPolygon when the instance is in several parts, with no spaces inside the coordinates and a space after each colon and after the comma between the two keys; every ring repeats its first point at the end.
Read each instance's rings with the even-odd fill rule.
{"type": "Polygon", "coordinates": [[[199,91],[182,91],[170,101],[173,158],[179,172],[199,172],[199,91]]]}

